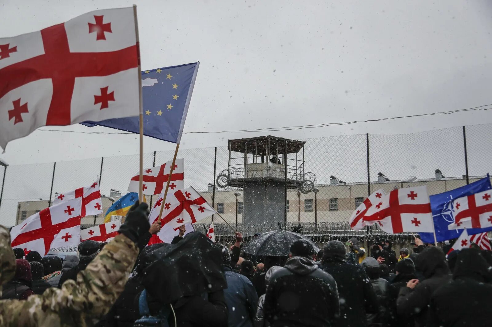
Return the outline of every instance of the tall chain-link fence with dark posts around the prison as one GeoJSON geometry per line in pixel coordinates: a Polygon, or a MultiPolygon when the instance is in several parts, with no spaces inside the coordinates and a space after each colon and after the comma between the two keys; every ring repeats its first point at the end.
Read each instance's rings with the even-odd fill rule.
{"type": "MultiPolygon", "coordinates": [[[[295,229],[323,242],[365,235],[366,229],[354,232],[347,221],[377,189],[390,192],[427,185],[429,194],[438,194],[482,178],[492,168],[490,124],[414,134],[359,134],[301,141],[305,144],[296,153],[288,152],[285,146],[286,159],[281,144],[274,150],[270,147],[265,156],[259,155],[259,145],[244,153],[230,152],[227,144],[180,150],[184,187],[193,186],[245,235],[295,229]],[[273,164],[272,153],[276,156],[273,164]],[[262,169],[266,169],[266,175],[262,169]],[[275,178],[272,181],[267,175],[275,178]],[[257,195],[262,192],[263,197],[258,200],[257,195]],[[262,207],[258,201],[264,201],[262,207]],[[259,221],[249,219],[253,211],[263,215],[259,221]]],[[[146,153],[144,167],[170,161],[173,154],[174,151],[146,153]]],[[[104,198],[118,196],[118,192],[123,195],[130,178],[138,172],[138,160],[137,155],[128,155],[0,167],[0,224],[20,224],[46,208],[57,193],[91,185],[98,179],[104,198]]],[[[105,212],[111,202],[104,198],[105,212]]],[[[148,199],[152,200],[153,197],[148,199]]],[[[85,217],[83,224],[100,224],[103,219],[104,214],[85,217]]],[[[218,237],[224,242],[232,240],[232,230],[217,215],[214,220],[218,237]]],[[[208,217],[195,224],[195,229],[205,231],[211,221],[212,217],[208,217]]],[[[377,232],[372,229],[372,233],[377,232]]]]}

